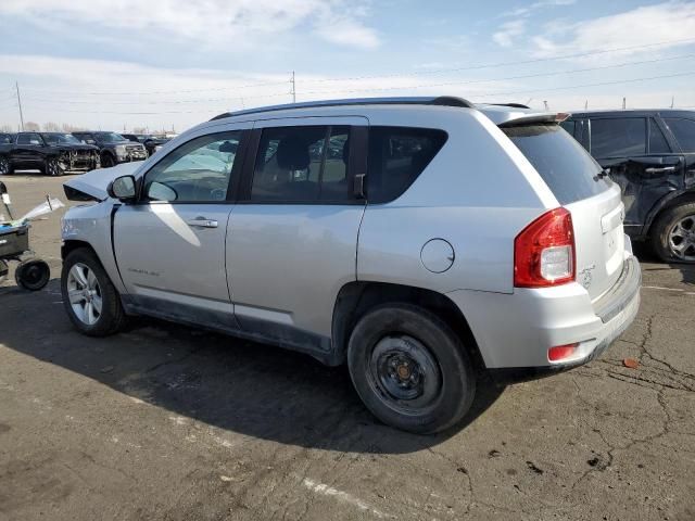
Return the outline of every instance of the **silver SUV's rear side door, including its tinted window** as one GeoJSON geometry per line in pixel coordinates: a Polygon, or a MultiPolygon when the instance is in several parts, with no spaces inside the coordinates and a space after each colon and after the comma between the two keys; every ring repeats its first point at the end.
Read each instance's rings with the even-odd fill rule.
{"type": "Polygon", "coordinates": [[[256,153],[229,225],[229,282],[242,328],[298,350],[328,350],[338,292],[356,279],[365,204],[354,175],[365,171],[367,119],[296,125],[254,125],[256,153]]]}

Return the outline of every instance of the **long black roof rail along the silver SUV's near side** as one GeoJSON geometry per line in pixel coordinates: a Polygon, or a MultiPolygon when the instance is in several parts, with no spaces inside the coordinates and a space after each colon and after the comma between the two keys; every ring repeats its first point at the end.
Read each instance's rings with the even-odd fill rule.
{"type": "Polygon", "coordinates": [[[346,106],[346,105],[442,105],[442,106],[460,106],[465,109],[475,109],[475,105],[463,98],[454,96],[440,97],[410,97],[410,98],[355,98],[348,100],[324,100],[324,101],[305,101],[302,103],[287,103],[283,105],[261,106],[257,109],[248,109],[245,111],[225,112],[211,119],[223,119],[225,117],[241,116],[248,114],[261,114],[264,112],[291,111],[294,109],[312,109],[321,106],[346,106]]]}

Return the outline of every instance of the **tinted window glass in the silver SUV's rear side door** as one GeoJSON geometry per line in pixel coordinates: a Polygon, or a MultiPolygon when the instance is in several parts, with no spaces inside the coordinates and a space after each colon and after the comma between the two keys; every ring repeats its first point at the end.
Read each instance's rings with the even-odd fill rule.
{"type": "Polygon", "coordinates": [[[251,186],[252,201],[353,199],[348,182],[349,127],[266,128],[251,186]]]}

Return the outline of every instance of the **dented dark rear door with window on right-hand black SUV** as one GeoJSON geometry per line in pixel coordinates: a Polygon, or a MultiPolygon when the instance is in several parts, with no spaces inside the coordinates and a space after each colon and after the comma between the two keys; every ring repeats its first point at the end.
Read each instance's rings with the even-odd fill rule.
{"type": "Polygon", "coordinates": [[[626,230],[640,236],[652,208],[682,179],[683,156],[654,117],[592,117],[590,125],[591,153],[620,186],[626,230]]]}

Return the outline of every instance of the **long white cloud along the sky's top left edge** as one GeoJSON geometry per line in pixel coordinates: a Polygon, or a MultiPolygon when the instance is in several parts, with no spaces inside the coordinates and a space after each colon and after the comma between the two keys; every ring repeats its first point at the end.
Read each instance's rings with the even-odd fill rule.
{"type": "Polygon", "coordinates": [[[73,27],[94,24],[126,31],[153,31],[202,42],[248,45],[308,25],[319,37],[343,46],[372,49],[376,31],[364,25],[362,4],[349,0],[2,0],[0,15],[37,24],[73,27]]]}

